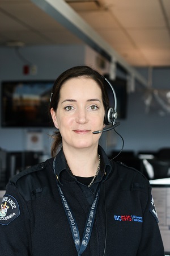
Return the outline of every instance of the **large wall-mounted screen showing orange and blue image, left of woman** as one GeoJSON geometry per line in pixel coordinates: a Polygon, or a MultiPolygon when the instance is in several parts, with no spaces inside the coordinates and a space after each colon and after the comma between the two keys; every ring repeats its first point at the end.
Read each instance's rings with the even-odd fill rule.
{"type": "Polygon", "coordinates": [[[2,127],[50,127],[48,106],[54,81],[4,81],[2,127]]]}

